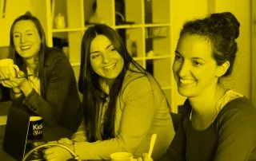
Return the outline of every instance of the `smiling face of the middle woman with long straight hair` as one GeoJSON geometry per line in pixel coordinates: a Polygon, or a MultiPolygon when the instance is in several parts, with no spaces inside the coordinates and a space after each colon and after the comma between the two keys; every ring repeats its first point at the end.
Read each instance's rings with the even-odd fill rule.
{"type": "Polygon", "coordinates": [[[113,80],[122,72],[124,60],[104,35],[97,35],[90,44],[90,65],[100,77],[113,80]]]}

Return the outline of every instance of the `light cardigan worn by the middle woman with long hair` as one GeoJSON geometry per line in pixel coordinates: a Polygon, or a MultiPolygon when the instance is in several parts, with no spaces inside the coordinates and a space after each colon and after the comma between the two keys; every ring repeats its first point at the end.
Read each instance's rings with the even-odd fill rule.
{"type": "Polygon", "coordinates": [[[149,151],[150,137],[157,134],[153,159],[158,159],[174,137],[170,108],[159,84],[153,77],[128,71],[117,98],[115,138],[86,142],[85,124],[71,139],[81,159],[110,159],[117,151],[129,151],[134,158],[149,151]]]}

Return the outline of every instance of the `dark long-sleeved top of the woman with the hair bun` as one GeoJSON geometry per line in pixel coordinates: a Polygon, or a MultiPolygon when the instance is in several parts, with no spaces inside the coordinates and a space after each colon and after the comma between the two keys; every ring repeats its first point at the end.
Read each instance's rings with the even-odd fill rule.
{"type": "Polygon", "coordinates": [[[161,161],[256,160],[256,110],[246,97],[230,100],[210,127],[193,128],[185,101],[181,124],[161,161]]]}

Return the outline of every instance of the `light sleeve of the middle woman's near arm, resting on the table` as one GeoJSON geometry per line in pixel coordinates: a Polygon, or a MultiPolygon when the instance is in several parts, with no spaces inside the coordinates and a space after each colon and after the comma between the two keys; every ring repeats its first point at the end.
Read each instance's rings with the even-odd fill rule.
{"type": "Polygon", "coordinates": [[[81,159],[110,159],[117,151],[134,153],[150,130],[154,119],[154,94],[146,77],[136,79],[122,93],[122,119],[118,135],[94,143],[76,142],[74,150],[81,159]]]}

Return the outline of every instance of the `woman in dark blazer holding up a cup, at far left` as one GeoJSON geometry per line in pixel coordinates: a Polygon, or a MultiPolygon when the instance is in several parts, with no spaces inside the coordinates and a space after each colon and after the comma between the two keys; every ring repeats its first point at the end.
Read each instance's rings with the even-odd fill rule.
{"type": "Polygon", "coordinates": [[[0,71],[2,85],[11,89],[13,106],[46,124],[58,124],[75,132],[82,120],[74,71],[61,49],[49,48],[38,18],[30,13],[16,18],[10,28],[9,58],[18,65],[16,78],[0,71]]]}

